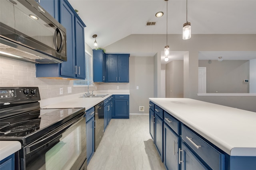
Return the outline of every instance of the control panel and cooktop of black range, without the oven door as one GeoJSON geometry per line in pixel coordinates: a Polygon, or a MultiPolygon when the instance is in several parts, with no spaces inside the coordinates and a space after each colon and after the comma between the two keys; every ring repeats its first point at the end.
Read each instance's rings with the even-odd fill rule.
{"type": "Polygon", "coordinates": [[[39,100],[37,87],[0,87],[0,140],[26,145],[85,111],[41,109],[39,100]]]}

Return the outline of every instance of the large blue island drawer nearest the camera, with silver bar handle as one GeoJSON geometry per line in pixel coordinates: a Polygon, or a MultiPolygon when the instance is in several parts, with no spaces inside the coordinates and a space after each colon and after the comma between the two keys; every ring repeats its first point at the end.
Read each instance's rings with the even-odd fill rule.
{"type": "Polygon", "coordinates": [[[210,168],[214,170],[224,170],[224,154],[218,152],[183,124],[181,131],[182,140],[190,146],[210,168]]]}

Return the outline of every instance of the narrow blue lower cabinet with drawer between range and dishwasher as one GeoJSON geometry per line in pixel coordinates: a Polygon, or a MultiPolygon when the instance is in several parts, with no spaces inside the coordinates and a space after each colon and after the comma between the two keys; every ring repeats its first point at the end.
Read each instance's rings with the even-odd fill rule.
{"type": "Polygon", "coordinates": [[[86,111],[86,154],[87,164],[94,154],[95,113],[94,107],[86,111]]]}

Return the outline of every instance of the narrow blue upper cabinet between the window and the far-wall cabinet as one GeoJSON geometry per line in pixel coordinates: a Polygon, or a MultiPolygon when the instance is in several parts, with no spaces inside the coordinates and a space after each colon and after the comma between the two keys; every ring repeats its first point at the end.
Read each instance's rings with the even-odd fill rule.
{"type": "Polygon", "coordinates": [[[93,81],[106,82],[106,54],[103,50],[93,52],[93,81]]]}

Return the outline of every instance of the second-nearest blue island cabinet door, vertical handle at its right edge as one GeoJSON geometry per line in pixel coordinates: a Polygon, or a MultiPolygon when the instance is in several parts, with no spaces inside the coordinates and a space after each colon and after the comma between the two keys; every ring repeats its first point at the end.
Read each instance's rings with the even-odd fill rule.
{"type": "Polygon", "coordinates": [[[179,137],[164,123],[164,166],[167,170],[179,170],[179,137]]]}

